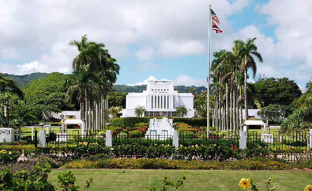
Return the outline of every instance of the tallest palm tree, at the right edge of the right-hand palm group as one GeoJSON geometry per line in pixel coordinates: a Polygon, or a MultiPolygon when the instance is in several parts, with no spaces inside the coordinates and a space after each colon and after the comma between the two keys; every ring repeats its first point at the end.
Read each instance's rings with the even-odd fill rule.
{"type": "MultiPolygon", "coordinates": [[[[247,105],[247,70],[252,69],[253,77],[257,71],[257,66],[254,61],[254,57],[258,59],[259,62],[263,62],[261,54],[257,51],[258,48],[254,44],[257,38],[248,39],[244,42],[241,39],[234,40],[234,44],[237,44],[238,55],[241,59],[241,68],[244,70],[245,75],[245,119],[248,120],[248,105],[247,105]]],[[[248,131],[247,131],[248,132],[248,131]]]]}

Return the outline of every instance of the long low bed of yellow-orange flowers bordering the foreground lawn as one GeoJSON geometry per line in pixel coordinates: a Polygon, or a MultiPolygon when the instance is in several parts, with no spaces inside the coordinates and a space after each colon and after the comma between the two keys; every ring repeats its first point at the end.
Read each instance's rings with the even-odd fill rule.
{"type": "Polygon", "coordinates": [[[230,161],[167,160],[163,158],[110,158],[97,161],[75,160],[64,168],[79,169],[211,169],[211,170],[292,170],[292,165],[279,161],[254,161],[250,159],[230,161]]]}

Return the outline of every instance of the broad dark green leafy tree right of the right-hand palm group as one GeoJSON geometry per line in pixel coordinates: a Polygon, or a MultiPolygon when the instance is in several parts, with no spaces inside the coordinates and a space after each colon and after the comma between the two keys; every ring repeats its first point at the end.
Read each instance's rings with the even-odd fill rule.
{"type": "Polygon", "coordinates": [[[299,86],[288,78],[261,78],[254,83],[256,99],[261,106],[270,104],[289,105],[301,96],[299,86]]]}

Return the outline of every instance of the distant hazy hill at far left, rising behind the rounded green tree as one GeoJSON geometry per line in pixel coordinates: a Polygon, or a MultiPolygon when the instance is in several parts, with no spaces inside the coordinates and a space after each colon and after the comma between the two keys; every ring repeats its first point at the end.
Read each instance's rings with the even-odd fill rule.
{"type": "Polygon", "coordinates": [[[16,84],[20,87],[23,88],[25,85],[29,84],[30,81],[32,81],[33,79],[42,79],[45,76],[47,76],[48,73],[40,73],[40,72],[36,72],[36,73],[31,73],[31,74],[26,74],[26,75],[13,75],[13,74],[3,74],[3,77],[9,77],[12,80],[16,81],[16,84]]]}

